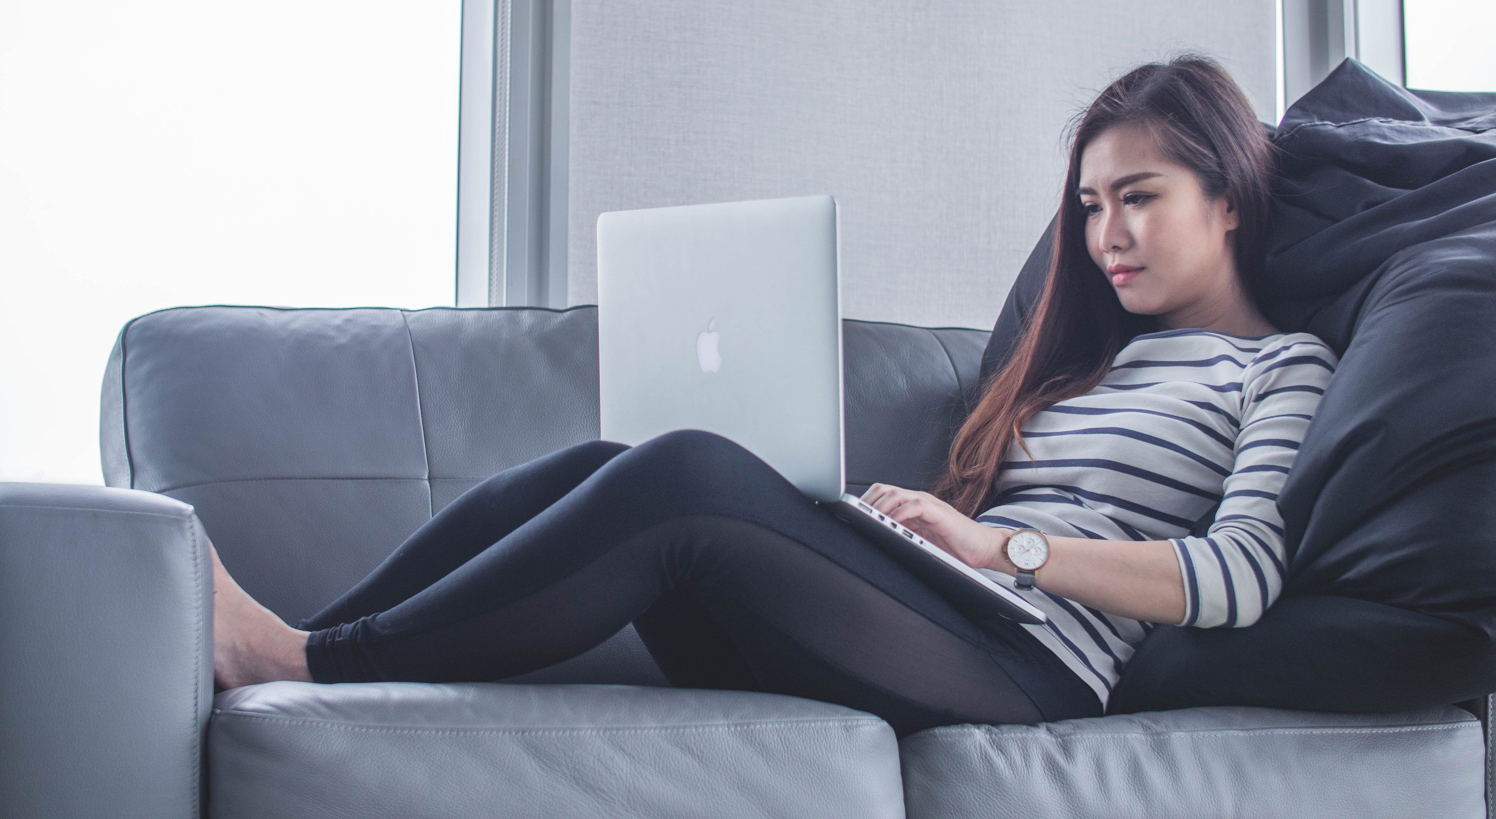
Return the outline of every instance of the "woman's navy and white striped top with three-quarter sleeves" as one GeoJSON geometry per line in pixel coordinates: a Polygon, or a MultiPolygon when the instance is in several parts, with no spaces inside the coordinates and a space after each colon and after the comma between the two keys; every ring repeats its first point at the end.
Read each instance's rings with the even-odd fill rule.
{"type": "MultiPolygon", "coordinates": [[[[1017,442],[1008,449],[1001,503],[977,520],[1062,538],[1170,541],[1185,581],[1180,624],[1249,626],[1282,588],[1278,493],[1336,364],[1305,332],[1140,335],[1095,389],[1023,427],[1028,452],[1017,442]],[[1218,503],[1206,536],[1189,536],[1218,503]]],[[[1013,587],[1010,575],[987,575],[1013,587]]],[[[1019,594],[1050,617],[1026,627],[1106,705],[1153,624],[1040,588],[1019,594]]]]}

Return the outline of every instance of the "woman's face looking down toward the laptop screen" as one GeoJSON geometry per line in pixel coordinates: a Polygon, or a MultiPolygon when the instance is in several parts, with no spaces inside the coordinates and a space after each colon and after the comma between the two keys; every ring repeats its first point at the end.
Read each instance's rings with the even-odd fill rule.
{"type": "Polygon", "coordinates": [[[1077,193],[1091,261],[1126,311],[1158,316],[1165,329],[1207,326],[1236,302],[1236,210],[1207,198],[1146,130],[1118,126],[1086,144],[1077,193]]]}

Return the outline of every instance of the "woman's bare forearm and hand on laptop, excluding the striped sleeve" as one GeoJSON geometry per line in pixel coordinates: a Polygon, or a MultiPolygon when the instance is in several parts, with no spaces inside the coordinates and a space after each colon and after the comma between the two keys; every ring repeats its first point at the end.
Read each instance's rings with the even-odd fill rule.
{"type": "MultiPolygon", "coordinates": [[[[1010,529],[983,526],[929,493],[886,484],[874,484],[862,499],[968,566],[1017,573],[1007,552],[1010,529]]],[[[1132,620],[1185,618],[1185,582],[1168,541],[1049,538],[1049,560],[1034,584],[1132,620]]]]}

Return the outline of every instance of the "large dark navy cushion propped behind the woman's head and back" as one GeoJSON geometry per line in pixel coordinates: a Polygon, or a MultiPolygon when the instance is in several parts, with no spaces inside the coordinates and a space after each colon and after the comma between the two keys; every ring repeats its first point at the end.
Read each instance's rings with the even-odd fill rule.
{"type": "MultiPolygon", "coordinates": [[[[1245,629],[1155,629],[1112,711],[1496,690],[1493,127],[1496,94],[1409,91],[1354,60],[1284,117],[1263,307],[1342,356],[1279,497],[1284,596],[1245,629]]],[[[1037,295],[1029,262],[987,367],[1037,295]]]]}

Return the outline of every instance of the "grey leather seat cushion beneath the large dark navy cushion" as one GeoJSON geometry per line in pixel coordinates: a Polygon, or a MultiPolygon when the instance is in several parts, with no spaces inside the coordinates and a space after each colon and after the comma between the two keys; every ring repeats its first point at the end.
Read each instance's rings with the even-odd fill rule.
{"type": "Polygon", "coordinates": [[[907,737],[902,756],[910,819],[1486,816],[1481,723],[1453,705],[960,725],[907,737]]]}

